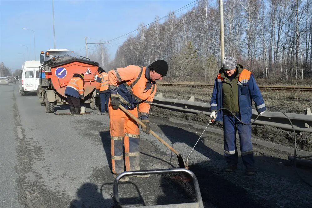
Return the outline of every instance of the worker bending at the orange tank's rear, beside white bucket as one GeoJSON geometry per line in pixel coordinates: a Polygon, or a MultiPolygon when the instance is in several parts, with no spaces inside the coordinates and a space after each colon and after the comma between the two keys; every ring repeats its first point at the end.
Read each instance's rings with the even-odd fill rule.
{"type": "Polygon", "coordinates": [[[84,74],[74,74],[65,89],[71,115],[80,115],[80,99],[83,100],[83,77],[84,74]]]}

